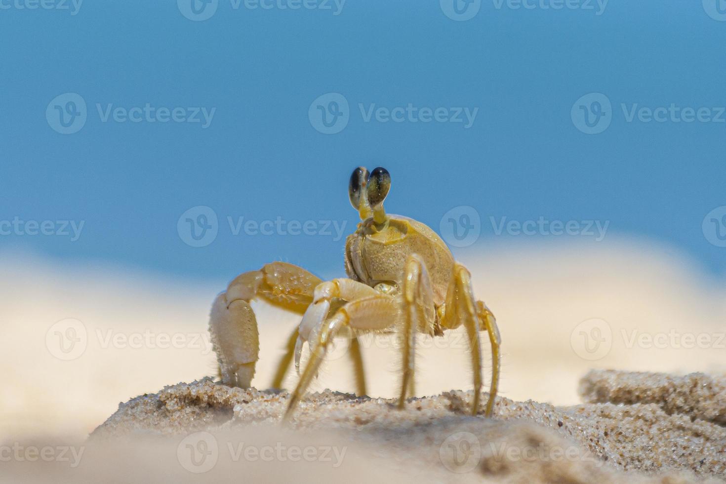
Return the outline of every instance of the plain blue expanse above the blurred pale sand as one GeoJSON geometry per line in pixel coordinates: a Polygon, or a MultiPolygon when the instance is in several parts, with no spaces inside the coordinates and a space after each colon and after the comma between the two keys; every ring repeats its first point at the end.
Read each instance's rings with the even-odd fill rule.
{"type": "Polygon", "coordinates": [[[348,176],[382,165],[393,213],[473,208],[467,243],[600,221],[726,271],[726,1],[194,1],[0,0],[0,250],[332,274],[348,176]]]}

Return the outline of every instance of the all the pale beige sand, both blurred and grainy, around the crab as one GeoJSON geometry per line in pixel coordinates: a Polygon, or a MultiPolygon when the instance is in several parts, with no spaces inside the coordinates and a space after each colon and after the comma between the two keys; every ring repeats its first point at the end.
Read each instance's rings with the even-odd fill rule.
{"type": "MultiPolygon", "coordinates": [[[[291,430],[277,421],[284,402],[273,404],[267,417],[266,403],[256,409],[265,399],[284,401],[285,393],[245,393],[240,404],[250,413],[237,412],[239,416],[234,411],[237,403],[229,406],[224,398],[212,399],[207,406],[201,402],[209,397],[161,397],[162,401],[160,395],[152,395],[169,383],[214,374],[213,351],[208,345],[197,345],[196,339],[187,340],[192,344],[184,348],[104,343],[109,335],[131,337],[147,330],[155,335],[201,336],[203,341],[209,304],[224,287],[218,279],[169,279],[115,266],[57,266],[0,254],[5,275],[0,280],[5,295],[0,307],[4,329],[0,367],[5,377],[0,393],[0,483],[637,483],[664,482],[664,476],[669,483],[722,482],[719,395],[723,398],[720,389],[726,377],[722,345],[656,348],[631,342],[634,335],[652,337],[670,330],[712,338],[722,335],[726,286],[721,279],[698,271],[693,261],[673,259],[668,250],[658,253],[657,245],[615,242],[590,248],[547,248],[537,242],[537,247],[528,249],[507,241],[499,247],[457,254],[472,270],[477,294],[495,309],[505,341],[501,395],[509,400],[502,398],[500,414],[491,421],[473,419],[462,411],[467,393],[446,393],[471,385],[466,349],[454,334],[436,340],[443,345],[426,345],[431,342],[422,338],[417,350],[417,395],[438,395],[415,401],[422,410],[400,413],[388,401],[352,401],[349,395],[321,392],[320,404],[309,403],[317,414],[306,417],[303,409],[295,422],[298,428],[291,430]],[[632,271],[634,264],[638,271],[632,271]],[[582,274],[597,277],[583,278],[582,274]],[[24,290],[30,286],[33,291],[24,290]],[[669,303],[663,304],[664,300],[669,303]],[[50,351],[47,334],[56,321],[68,317],[83,321],[88,345],[78,358],[60,360],[50,351]],[[575,344],[582,345],[582,340],[571,338],[579,334],[582,321],[590,318],[608,321],[612,330],[609,353],[595,361],[583,357],[582,348],[575,344]],[[593,368],[657,369],[668,374],[597,372],[578,385],[593,368]],[[681,380],[672,375],[692,372],[722,376],[695,374],[681,380]],[[151,412],[147,419],[129,422],[131,408],[124,404],[87,439],[118,409],[120,401],[142,393],[149,393],[149,401],[159,406],[144,410],[151,412]],[[556,408],[526,402],[529,398],[554,402],[556,408]],[[351,417],[345,417],[346,412],[348,416],[357,412],[359,403],[361,411],[367,409],[363,415],[372,414],[371,422],[362,417],[359,422],[352,417],[351,422],[351,417]],[[196,413],[197,418],[184,417],[187,410],[174,409],[175,405],[196,413]],[[648,407],[648,413],[641,407],[648,407]],[[334,418],[331,411],[340,411],[342,416],[334,418]],[[533,411],[539,417],[525,415],[533,411]],[[412,420],[426,412],[441,417],[412,420]],[[189,424],[188,430],[184,426],[171,430],[175,422],[189,424]],[[458,429],[470,435],[458,434],[458,429]],[[214,440],[207,442],[210,436],[214,440]],[[639,454],[631,442],[634,438],[658,453],[645,448],[639,454]],[[203,442],[217,444],[218,458],[210,469],[189,463],[188,446],[203,442]],[[242,444],[245,451],[284,445],[291,454],[276,454],[272,462],[254,455],[240,457],[237,448],[242,444]],[[19,446],[19,454],[7,461],[6,451],[14,451],[14,446],[19,446]],[[77,454],[82,452],[76,467],[76,461],[68,459],[68,446],[77,454]],[[330,456],[320,455],[312,462],[295,456],[296,449],[305,451],[309,446],[345,453],[340,462],[331,461],[330,456]],[[45,462],[37,450],[49,451],[51,457],[55,452],[57,459],[45,462]],[[565,451],[569,454],[563,456],[565,451]],[[658,461],[660,475],[655,474],[658,461]]],[[[230,277],[242,266],[241,259],[230,261],[230,277]]],[[[261,357],[253,384],[265,388],[299,316],[280,313],[264,303],[255,311],[261,357]]],[[[383,344],[389,343],[386,340],[379,343],[375,340],[364,348],[368,387],[371,395],[389,398],[398,393],[399,354],[383,344]]],[[[327,356],[330,361],[312,390],[352,390],[345,348],[338,345],[327,356]]],[[[285,385],[291,387],[295,380],[290,372],[285,385]]],[[[230,399],[240,391],[219,385],[211,388],[230,399]]],[[[197,395],[208,391],[198,388],[197,395]]],[[[142,405],[144,398],[139,400],[134,406],[142,405]]]]}

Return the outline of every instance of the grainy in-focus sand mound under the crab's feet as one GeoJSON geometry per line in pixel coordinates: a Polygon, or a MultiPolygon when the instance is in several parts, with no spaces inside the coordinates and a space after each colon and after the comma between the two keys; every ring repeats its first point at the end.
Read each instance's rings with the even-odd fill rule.
{"type": "MultiPolygon", "coordinates": [[[[725,380],[592,371],[580,392],[585,403],[568,407],[498,398],[496,416],[486,419],[468,414],[471,393],[460,390],[409,399],[403,411],[393,400],[325,390],[309,395],[282,427],[286,392],[241,390],[205,378],[121,403],[89,443],[129,445],[158,436],[181,454],[184,448],[216,448],[213,468],[197,475],[215,481],[235,464],[261,464],[260,457],[242,457],[241,464],[232,459],[235,446],[260,451],[274,440],[283,447],[322,441],[338,454],[345,448],[339,467],[334,458],[318,459],[310,475],[296,475],[300,481],[319,481],[321,468],[340,478],[350,467],[357,470],[349,482],[370,482],[375,475],[389,482],[391,476],[423,482],[726,482],[725,380]]],[[[283,450],[271,462],[292,464],[288,457],[283,450]]],[[[181,467],[195,469],[184,459],[178,459],[181,467]]]]}

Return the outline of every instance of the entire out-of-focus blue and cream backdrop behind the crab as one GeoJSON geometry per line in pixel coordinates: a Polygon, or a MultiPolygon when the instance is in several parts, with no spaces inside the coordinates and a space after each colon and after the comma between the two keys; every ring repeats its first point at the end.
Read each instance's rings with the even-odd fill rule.
{"type": "MultiPolygon", "coordinates": [[[[234,276],[344,274],[357,165],[472,271],[503,396],[725,371],[722,0],[0,0],[0,38],[4,435],[216,374],[234,276]]],[[[256,309],[268,387],[299,318],[256,309]]],[[[460,338],[419,343],[418,395],[470,388],[460,338]]],[[[315,388],[350,373],[338,345],[315,388]]]]}

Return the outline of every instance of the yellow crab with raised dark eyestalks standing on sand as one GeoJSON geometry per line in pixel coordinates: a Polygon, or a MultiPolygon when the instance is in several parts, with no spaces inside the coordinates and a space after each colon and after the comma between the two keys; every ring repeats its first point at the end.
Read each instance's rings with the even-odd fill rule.
{"type": "Polygon", "coordinates": [[[411,218],[386,213],[383,201],[390,188],[391,176],[385,168],[368,173],[359,167],[351,175],[348,194],[361,221],[346,239],[347,278],[322,281],[301,267],[273,262],[237,276],[227,292],[216,298],[209,331],[225,385],[250,387],[259,353],[257,321],[250,303],[264,299],[302,316],[287,339],[273,388],[282,386],[293,358],[299,374],[303,346],[308,343],[310,347],[310,357],[288,399],[285,419],[293,416],[335,337],[350,339],[356,393],[365,395],[359,336],[367,332],[399,335],[403,358],[398,406],[403,409],[414,388],[416,334],[437,337],[461,326],[470,348],[474,415],[480,409],[482,386],[480,332],[489,336],[492,382],[484,414],[492,415],[499,385],[497,320],[474,297],[470,272],[454,261],[435,231],[411,218]]]}

